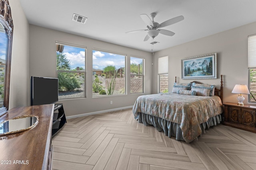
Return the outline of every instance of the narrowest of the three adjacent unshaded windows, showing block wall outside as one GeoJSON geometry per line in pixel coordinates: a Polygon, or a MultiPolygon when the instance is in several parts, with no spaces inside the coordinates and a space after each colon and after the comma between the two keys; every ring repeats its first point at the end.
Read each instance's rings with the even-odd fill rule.
{"type": "Polygon", "coordinates": [[[130,93],[144,92],[144,59],[130,58],[130,93]]]}

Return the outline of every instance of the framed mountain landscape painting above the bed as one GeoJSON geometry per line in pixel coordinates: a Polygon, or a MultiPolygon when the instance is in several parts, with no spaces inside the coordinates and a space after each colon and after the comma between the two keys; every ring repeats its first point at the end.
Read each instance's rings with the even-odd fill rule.
{"type": "Polygon", "coordinates": [[[182,79],[217,78],[217,53],[181,60],[182,79]]]}

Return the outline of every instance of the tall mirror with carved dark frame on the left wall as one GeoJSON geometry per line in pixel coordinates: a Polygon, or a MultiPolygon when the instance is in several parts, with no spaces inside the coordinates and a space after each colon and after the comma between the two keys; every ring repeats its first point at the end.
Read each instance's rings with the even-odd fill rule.
{"type": "Polygon", "coordinates": [[[13,21],[8,0],[0,0],[0,115],[9,107],[13,21]]]}

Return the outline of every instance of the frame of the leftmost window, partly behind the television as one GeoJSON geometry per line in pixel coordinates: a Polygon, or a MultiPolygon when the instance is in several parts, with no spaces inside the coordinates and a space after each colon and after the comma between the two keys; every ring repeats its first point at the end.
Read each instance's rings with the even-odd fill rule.
{"type": "Polygon", "coordinates": [[[57,45],[64,45],[64,46],[70,46],[70,47],[76,47],[76,48],[81,48],[81,49],[84,49],[84,71],[81,71],[81,70],[76,70],[76,71],[73,71],[73,70],[57,70],[57,58],[56,58],[56,78],[58,78],[58,73],[59,72],[67,72],[67,73],[78,73],[78,74],[84,74],[84,96],[82,97],[74,97],[74,98],[59,98],[59,101],[60,100],[68,100],[68,99],[80,99],[80,98],[86,98],[87,96],[87,86],[86,86],[86,59],[87,59],[87,47],[86,46],[82,46],[82,45],[76,45],[76,44],[71,44],[71,43],[64,43],[64,42],[60,42],[60,41],[56,41],[55,42],[55,47],[56,47],[56,57],[57,57],[57,45]]]}

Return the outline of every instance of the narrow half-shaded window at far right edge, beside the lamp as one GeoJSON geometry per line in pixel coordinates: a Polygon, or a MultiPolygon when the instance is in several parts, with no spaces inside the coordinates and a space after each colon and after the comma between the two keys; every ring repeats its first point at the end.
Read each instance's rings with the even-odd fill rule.
{"type": "Polygon", "coordinates": [[[249,90],[251,94],[248,102],[256,103],[256,35],[248,36],[248,69],[249,69],[249,90]]]}

